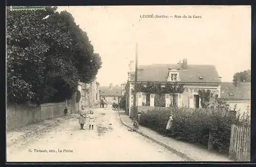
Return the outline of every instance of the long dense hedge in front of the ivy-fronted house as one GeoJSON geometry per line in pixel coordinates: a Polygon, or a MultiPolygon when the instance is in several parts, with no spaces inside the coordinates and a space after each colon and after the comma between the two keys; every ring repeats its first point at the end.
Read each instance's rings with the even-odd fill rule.
{"type": "Polygon", "coordinates": [[[163,134],[171,112],[174,120],[167,136],[207,147],[211,132],[214,148],[228,153],[231,124],[238,124],[238,120],[226,107],[218,106],[216,109],[171,107],[142,111],[139,124],[163,134]]]}

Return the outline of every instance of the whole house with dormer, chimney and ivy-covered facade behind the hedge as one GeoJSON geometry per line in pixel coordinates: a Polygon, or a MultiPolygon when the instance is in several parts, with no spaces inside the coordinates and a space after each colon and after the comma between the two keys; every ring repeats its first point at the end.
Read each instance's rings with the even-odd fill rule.
{"type": "MultiPolygon", "coordinates": [[[[123,93],[126,113],[131,114],[134,100],[135,67],[130,63],[123,93]]],[[[139,65],[137,76],[137,106],[201,108],[210,98],[220,98],[221,77],[214,65],[177,64],[139,65]],[[204,101],[204,103],[202,103],[204,101]]]]}

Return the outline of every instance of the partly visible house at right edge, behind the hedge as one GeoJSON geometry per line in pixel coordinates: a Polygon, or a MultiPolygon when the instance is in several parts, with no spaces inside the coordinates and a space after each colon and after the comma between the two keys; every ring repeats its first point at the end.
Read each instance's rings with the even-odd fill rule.
{"type": "Polygon", "coordinates": [[[251,83],[250,82],[222,82],[220,100],[225,100],[230,109],[250,111],[251,107],[251,83]],[[236,106],[236,107],[235,107],[236,106]]]}

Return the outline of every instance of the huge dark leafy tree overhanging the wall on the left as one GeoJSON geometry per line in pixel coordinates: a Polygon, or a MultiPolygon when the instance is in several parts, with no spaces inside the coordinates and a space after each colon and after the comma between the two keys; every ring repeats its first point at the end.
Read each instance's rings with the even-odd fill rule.
{"type": "Polygon", "coordinates": [[[86,32],[66,11],[7,8],[7,97],[41,104],[71,97],[101,67],[86,32]]]}

